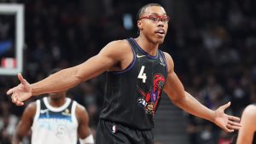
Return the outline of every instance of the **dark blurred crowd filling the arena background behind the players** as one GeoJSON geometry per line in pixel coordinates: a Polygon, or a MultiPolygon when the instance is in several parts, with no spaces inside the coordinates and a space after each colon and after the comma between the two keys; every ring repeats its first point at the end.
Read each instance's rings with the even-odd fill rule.
{"type": "MultiPolygon", "coordinates": [[[[66,68],[87,60],[110,41],[136,37],[137,10],[152,2],[25,0],[24,78],[29,83],[36,82],[55,67],[66,68]],[[132,15],[130,28],[125,27],[125,14],[132,15]]],[[[165,6],[164,2],[161,4],[165,6]]],[[[172,7],[176,7],[175,3],[172,7]]],[[[255,7],[253,0],[183,0],[182,15],[171,14],[161,49],[172,55],[186,90],[211,109],[231,101],[227,112],[240,116],[247,104],[256,102],[255,7]],[[178,19],[179,16],[183,18],[178,19]]],[[[102,74],[68,91],[87,108],[94,132],[104,81],[102,74]]],[[[0,144],[9,144],[25,108],[15,107],[5,95],[18,83],[15,77],[0,76],[0,144]]],[[[190,144],[230,141],[230,135],[210,122],[191,115],[187,118],[190,144]]]]}

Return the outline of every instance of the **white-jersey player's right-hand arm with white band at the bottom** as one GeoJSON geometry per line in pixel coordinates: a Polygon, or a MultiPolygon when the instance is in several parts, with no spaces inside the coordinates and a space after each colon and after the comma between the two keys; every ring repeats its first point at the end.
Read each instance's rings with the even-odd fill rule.
{"type": "Polygon", "coordinates": [[[79,121],[79,141],[81,144],[94,144],[93,136],[90,134],[89,116],[84,107],[78,104],[76,116],[79,121]]]}

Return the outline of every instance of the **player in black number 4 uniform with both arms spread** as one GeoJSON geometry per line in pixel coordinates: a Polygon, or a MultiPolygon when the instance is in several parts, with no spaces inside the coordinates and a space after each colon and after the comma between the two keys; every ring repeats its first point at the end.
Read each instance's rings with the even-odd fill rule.
{"type": "Polygon", "coordinates": [[[186,112],[205,118],[225,131],[240,128],[239,118],[227,115],[230,102],[212,111],[183,88],[174,72],[172,57],[159,49],[168,29],[169,16],[157,3],[143,6],[137,14],[139,36],[108,43],[84,63],[29,84],[9,89],[12,101],[23,105],[32,95],[67,90],[107,72],[103,110],[96,131],[97,144],[153,144],[154,115],[165,90],[172,102],[186,112]]]}

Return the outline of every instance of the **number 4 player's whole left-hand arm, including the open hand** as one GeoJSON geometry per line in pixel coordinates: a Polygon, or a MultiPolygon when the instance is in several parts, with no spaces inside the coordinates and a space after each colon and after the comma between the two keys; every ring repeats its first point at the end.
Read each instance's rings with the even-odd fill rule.
{"type": "MultiPolygon", "coordinates": [[[[8,95],[12,94],[12,101],[16,105],[23,105],[25,101],[32,95],[40,95],[45,93],[52,93],[63,91],[78,85],[82,81],[90,78],[95,78],[102,72],[109,70],[115,64],[124,60],[124,50],[121,49],[129,45],[125,40],[113,41],[108,43],[101,52],[86,60],[84,63],[64,69],[60,72],[50,75],[38,83],[28,84],[21,74],[18,75],[20,84],[13,89],[9,89],[8,95]]],[[[131,50],[131,49],[129,49],[131,50]]]]}

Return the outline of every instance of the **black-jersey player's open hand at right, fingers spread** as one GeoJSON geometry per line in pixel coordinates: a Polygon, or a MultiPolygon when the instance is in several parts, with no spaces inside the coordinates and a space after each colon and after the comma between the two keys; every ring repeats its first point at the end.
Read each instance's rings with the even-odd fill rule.
{"type": "Polygon", "coordinates": [[[213,123],[217,124],[226,132],[233,132],[234,130],[239,130],[241,128],[240,118],[225,114],[224,110],[228,107],[230,107],[230,102],[218,107],[218,109],[214,111],[213,123]]]}

